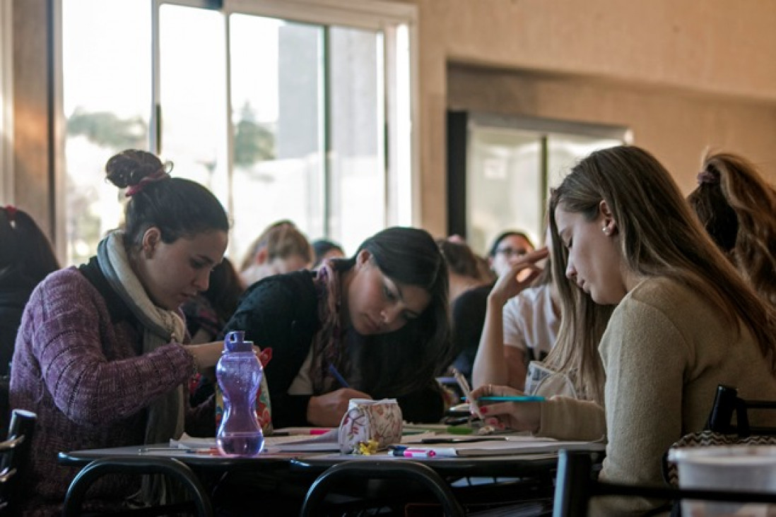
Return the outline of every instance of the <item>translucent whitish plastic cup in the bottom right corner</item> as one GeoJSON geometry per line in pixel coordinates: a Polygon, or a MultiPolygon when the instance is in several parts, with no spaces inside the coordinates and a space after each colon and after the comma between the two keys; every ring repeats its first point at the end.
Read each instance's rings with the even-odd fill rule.
{"type": "MultiPolygon", "coordinates": [[[[679,488],[776,493],[776,446],[702,446],[672,449],[679,488]]],[[[776,505],[683,500],[682,515],[766,517],[776,505]]]]}

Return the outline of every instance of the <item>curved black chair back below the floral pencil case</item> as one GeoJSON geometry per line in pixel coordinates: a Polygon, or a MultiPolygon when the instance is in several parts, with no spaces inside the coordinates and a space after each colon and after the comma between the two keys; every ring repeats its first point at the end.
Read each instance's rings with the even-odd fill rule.
{"type": "MultiPolygon", "coordinates": [[[[442,510],[448,517],[466,515],[462,505],[453,495],[450,485],[435,470],[415,461],[354,460],[329,467],[317,477],[302,505],[302,517],[325,515],[324,499],[343,481],[353,479],[394,479],[416,481],[428,488],[442,504],[442,510]]],[[[400,499],[397,495],[396,499],[400,499]]],[[[369,505],[369,501],[363,503],[369,505]]]]}

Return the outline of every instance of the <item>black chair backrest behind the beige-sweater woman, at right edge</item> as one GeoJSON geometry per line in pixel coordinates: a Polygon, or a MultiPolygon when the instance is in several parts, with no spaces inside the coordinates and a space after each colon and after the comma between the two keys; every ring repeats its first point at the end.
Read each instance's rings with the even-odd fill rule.
{"type": "Polygon", "coordinates": [[[776,435],[776,427],[751,427],[749,409],[776,409],[776,401],[744,400],[738,396],[736,388],[719,384],[706,428],[714,433],[737,434],[741,438],[752,434],[776,435]],[[733,415],[736,415],[735,426],[733,415]]]}

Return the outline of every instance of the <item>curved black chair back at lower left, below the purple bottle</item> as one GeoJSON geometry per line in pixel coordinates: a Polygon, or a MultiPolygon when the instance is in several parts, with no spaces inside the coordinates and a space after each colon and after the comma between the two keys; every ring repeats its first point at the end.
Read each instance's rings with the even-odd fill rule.
{"type": "Polygon", "coordinates": [[[126,456],[100,458],[81,469],[64,497],[63,517],[81,515],[89,487],[106,474],[162,474],[179,481],[192,497],[192,501],[184,503],[130,509],[109,515],[172,515],[178,512],[194,513],[200,517],[213,515],[213,505],[203,484],[182,461],[166,457],[126,456]]]}

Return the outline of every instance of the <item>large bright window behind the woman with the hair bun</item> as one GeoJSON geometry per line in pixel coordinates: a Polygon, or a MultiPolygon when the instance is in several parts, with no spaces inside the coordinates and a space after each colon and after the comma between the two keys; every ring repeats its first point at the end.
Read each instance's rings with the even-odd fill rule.
{"type": "Polygon", "coordinates": [[[127,147],[220,198],[237,260],[278,219],[348,253],[411,224],[414,6],[219,3],[61,0],[68,263],[120,223],[102,167],[127,147]]]}

